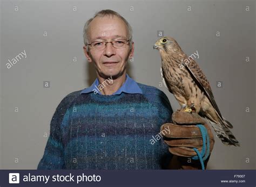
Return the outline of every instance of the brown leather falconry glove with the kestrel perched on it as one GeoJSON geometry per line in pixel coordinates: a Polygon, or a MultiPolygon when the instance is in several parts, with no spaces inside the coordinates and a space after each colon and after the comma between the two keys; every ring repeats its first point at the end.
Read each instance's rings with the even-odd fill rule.
{"type": "MultiPolygon", "coordinates": [[[[189,158],[197,155],[193,147],[197,148],[199,152],[203,148],[203,138],[199,127],[196,125],[202,124],[207,129],[210,138],[210,154],[214,145],[214,136],[211,128],[196,113],[177,111],[172,114],[172,121],[173,124],[166,123],[161,126],[164,142],[169,145],[169,151],[173,154],[171,169],[201,169],[199,160],[189,158]]],[[[205,168],[210,154],[204,161],[205,168]]]]}

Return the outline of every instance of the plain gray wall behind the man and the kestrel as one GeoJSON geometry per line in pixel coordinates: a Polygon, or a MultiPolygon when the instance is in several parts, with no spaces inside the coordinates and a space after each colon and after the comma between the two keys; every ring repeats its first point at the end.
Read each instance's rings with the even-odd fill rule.
{"type": "Polygon", "coordinates": [[[83,53],[82,31],[85,21],[102,9],[119,12],[133,28],[129,75],[163,90],[173,110],[178,103],[159,86],[160,55],[152,47],[157,31],[176,39],[187,55],[198,51],[196,61],[241,144],[227,147],[215,138],[208,169],[255,169],[255,1],[171,0],[2,1],[0,169],[36,169],[60,100],[95,80],[83,53]],[[24,50],[26,59],[6,68],[8,59],[24,50]],[[50,88],[43,88],[43,81],[50,81],[50,88]],[[217,88],[217,81],[223,88],[217,88]]]}

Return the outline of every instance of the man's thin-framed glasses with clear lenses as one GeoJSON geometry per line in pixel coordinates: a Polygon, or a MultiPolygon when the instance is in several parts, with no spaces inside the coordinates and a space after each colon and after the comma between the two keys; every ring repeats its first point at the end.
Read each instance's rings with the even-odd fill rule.
{"type": "Polygon", "coordinates": [[[126,39],[116,39],[113,41],[93,41],[91,42],[91,44],[88,44],[88,45],[91,46],[93,49],[103,50],[106,48],[107,43],[111,43],[112,47],[120,49],[120,48],[125,48],[129,41],[130,40],[126,40],[126,39]]]}

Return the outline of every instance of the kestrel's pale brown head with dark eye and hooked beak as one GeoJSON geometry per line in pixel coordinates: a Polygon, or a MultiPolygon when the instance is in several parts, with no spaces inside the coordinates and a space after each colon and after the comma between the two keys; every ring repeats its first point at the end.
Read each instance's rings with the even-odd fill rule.
{"type": "Polygon", "coordinates": [[[178,45],[177,41],[171,37],[163,37],[157,40],[157,42],[153,45],[154,49],[158,49],[160,53],[179,53],[181,52],[181,48],[178,45]]]}

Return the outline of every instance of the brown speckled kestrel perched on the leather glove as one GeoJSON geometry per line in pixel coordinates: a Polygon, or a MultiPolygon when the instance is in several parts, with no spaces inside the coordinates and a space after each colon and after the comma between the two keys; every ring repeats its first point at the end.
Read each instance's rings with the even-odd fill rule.
{"type": "Polygon", "coordinates": [[[161,56],[161,77],[167,89],[174,95],[181,110],[192,109],[210,121],[217,136],[225,145],[240,146],[229,130],[233,128],[220,113],[210,83],[192,56],[187,56],[170,37],[157,40],[153,48],[161,56]]]}

